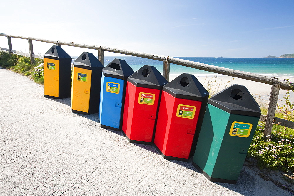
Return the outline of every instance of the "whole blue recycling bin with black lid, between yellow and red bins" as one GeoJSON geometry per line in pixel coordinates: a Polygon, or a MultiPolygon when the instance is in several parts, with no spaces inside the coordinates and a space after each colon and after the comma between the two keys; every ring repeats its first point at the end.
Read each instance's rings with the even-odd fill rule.
{"type": "Polygon", "coordinates": [[[127,79],[133,69],[122,59],[114,59],[103,70],[101,78],[99,120],[102,128],[120,131],[127,79]]]}

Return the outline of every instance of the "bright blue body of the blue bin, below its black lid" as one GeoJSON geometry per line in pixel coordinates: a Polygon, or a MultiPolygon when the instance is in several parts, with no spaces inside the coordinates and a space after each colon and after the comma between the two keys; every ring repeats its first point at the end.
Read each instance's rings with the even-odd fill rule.
{"type": "Polygon", "coordinates": [[[120,128],[124,83],[124,80],[102,74],[99,111],[101,125],[120,128]]]}

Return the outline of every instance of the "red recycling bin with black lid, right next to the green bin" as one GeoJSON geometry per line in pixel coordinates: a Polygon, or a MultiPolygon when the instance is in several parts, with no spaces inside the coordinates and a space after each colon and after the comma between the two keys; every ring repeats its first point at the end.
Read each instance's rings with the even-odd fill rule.
{"type": "Polygon", "coordinates": [[[209,93],[192,74],[163,86],[154,146],[165,159],[188,161],[193,155],[209,93]]]}

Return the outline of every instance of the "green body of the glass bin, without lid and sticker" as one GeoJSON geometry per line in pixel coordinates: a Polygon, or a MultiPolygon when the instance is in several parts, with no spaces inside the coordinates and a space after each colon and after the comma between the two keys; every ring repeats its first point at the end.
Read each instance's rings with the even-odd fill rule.
{"type": "Polygon", "coordinates": [[[236,181],[258,121],[259,117],[229,114],[208,104],[193,163],[211,178],[236,181]],[[252,124],[248,137],[230,135],[234,122],[252,124]]]}

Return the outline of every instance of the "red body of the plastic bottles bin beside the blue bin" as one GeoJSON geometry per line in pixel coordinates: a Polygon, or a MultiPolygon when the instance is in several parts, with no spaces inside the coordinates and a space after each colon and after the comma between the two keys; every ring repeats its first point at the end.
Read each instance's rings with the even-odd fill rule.
{"type": "Polygon", "coordinates": [[[130,140],[152,142],[160,95],[159,89],[136,87],[127,82],[122,129],[130,140]]]}

